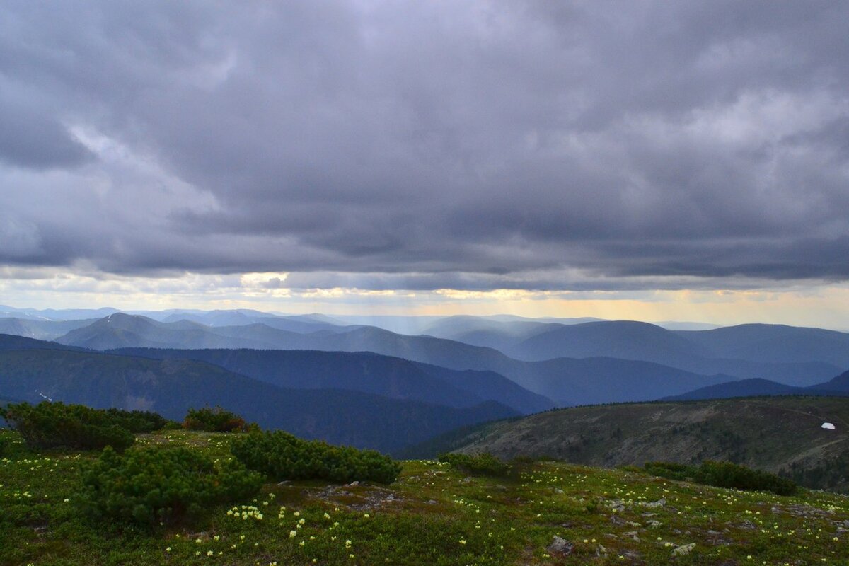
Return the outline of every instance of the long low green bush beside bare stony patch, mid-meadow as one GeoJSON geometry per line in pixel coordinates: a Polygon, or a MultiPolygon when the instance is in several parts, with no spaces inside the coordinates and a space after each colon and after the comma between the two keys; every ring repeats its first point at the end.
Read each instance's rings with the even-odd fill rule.
{"type": "Polygon", "coordinates": [[[283,431],[251,432],[233,440],[233,456],[245,467],[274,479],[354,480],[391,484],[401,464],[373,450],[331,446],[321,440],[301,440],[283,431]]]}

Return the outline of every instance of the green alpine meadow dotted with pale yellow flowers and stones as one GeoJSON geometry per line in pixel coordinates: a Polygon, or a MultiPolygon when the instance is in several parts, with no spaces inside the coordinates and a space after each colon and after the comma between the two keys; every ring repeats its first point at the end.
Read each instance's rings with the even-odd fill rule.
{"type": "MultiPolygon", "coordinates": [[[[77,468],[95,452],[33,454],[15,434],[0,434],[12,439],[0,459],[3,566],[849,563],[846,496],[782,497],[560,462],[517,464],[491,478],[414,461],[389,486],[268,484],[251,501],[151,534],[82,516],[77,468]],[[570,556],[549,555],[554,535],[571,542],[570,556]],[[672,558],[690,543],[689,554],[672,558]]],[[[139,442],[227,458],[231,438],[169,431],[139,442]]]]}

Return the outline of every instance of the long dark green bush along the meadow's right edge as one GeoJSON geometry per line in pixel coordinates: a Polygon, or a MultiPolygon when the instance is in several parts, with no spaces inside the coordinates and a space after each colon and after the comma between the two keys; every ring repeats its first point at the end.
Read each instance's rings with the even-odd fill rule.
{"type": "Polygon", "coordinates": [[[796,483],[775,474],[740,466],[733,462],[706,460],[700,466],[674,462],[646,462],[649,474],[667,479],[692,479],[694,482],[737,490],[772,491],[779,496],[791,496],[798,490],[796,483]]]}

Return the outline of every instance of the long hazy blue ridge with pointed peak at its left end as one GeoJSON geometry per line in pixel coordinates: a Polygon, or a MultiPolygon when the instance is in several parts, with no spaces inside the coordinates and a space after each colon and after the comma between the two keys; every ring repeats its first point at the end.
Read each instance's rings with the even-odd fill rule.
{"type": "MultiPolygon", "coordinates": [[[[551,361],[519,361],[505,356],[498,350],[482,348],[429,336],[407,336],[391,333],[374,327],[353,327],[342,332],[320,331],[311,334],[292,333],[264,324],[245,327],[202,328],[207,334],[206,344],[214,342],[210,333],[226,333],[231,342],[225,345],[195,345],[201,340],[194,333],[197,329],[186,330],[194,339],[184,339],[170,325],[157,327],[149,320],[133,322],[125,316],[110,317],[109,323],[92,325],[87,329],[73,331],[60,342],[64,344],[85,345],[98,349],[113,347],[171,347],[171,348],[256,348],[278,350],[323,350],[323,351],[371,351],[385,356],[396,356],[411,361],[420,361],[455,370],[487,370],[499,373],[520,386],[539,395],[552,399],[560,406],[586,404],[607,401],[642,401],[678,395],[699,387],[716,384],[732,379],[729,376],[696,375],[681,369],[664,367],[660,364],[644,361],[614,360],[610,358],[591,358],[576,360],[559,358],[551,361]],[[115,322],[117,321],[117,322],[115,322]],[[121,322],[121,334],[115,336],[112,328],[121,322]],[[163,329],[167,332],[158,332],[163,329]],[[138,337],[138,327],[149,331],[144,339],[138,337]],[[131,334],[130,330],[137,332],[131,334]],[[102,336],[103,339],[98,337],[102,336]],[[135,339],[138,343],[132,344],[135,339]],[[168,341],[167,344],[162,344],[168,341]],[[154,345],[151,342],[155,342],[154,345]],[[156,344],[158,343],[158,344],[156,344]],[[97,346],[94,346],[97,345],[97,346]]],[[[212,334],[216,339],[225,338],[221,334],[212,334]]],[[[826,373],[827,377],[835,374],[826,373]]],[[[822,381],[824,378],[821,378],[822,381]]]]}

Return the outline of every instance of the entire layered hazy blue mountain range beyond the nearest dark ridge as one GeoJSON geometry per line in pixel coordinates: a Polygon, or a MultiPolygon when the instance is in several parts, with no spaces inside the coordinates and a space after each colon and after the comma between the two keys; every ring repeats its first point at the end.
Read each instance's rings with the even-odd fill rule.
{"type": "Polygon", "coordinates": [[[686,395],[797,394],[849,367],[849,333],[766,324],[680,330],[669,328],[703,327],[509,316],[280,316],[250,310],[144,316],[114,309],[0,307],[0,313],[14,315],[0,318],[0,330],[65,346],[212,361],[284,387],[341,386],[454,407],[498,401],[524,413],[686,395]],[[281,353],[294,350],[303,351],[281,353]],[[355,363],[343,352],[392,360],[373,356],[355,363]]]}

